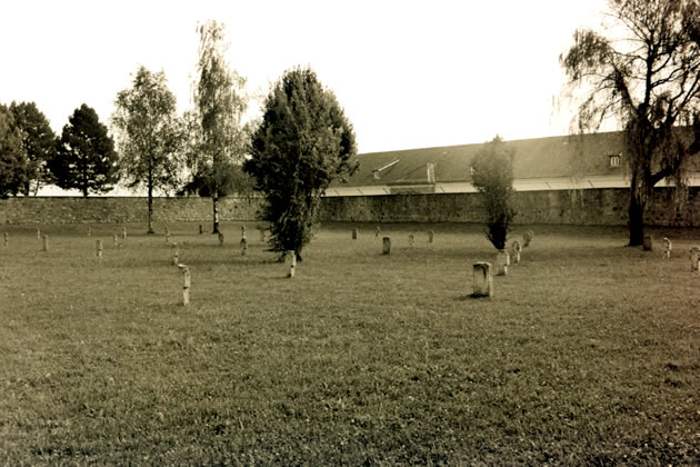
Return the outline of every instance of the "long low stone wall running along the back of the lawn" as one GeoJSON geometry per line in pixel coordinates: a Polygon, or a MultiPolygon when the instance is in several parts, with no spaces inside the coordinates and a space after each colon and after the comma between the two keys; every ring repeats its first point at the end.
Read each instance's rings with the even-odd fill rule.
{"type": "MultiPolygon", "coordinates": [[[[386,195],[329,197],[321,221],[483,222],[479,193],[386,195]]],[[[221,220],[258,218],[261,198],[220,200],[221,220]]],[[[516,223],[627,225],[629,191],[623,188],[520,191],[514,195],[516,223]]],[[[0,199],[0,223],[146,222],[144,197],[18,197],[0,199]]],[[[156,222],[207,221],[210,198],[153,198],[156,222]]],[[[691,188],[688,205],[676,209],[673,191],[657,188],[647,208],[650,226],[700,226],[700,188],[691,188]]]]}

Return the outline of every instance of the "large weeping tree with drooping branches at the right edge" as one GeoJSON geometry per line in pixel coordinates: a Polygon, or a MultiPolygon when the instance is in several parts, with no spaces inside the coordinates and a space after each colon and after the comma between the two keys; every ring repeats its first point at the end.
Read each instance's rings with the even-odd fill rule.
{"type": "Polygon", "coordinates": [[[577,30],[560,57],[571,90],[587,98],[578,130],[608,118],[624,129],[630,170],[629,245],[642,245],[644,209],[663,179],[686,188],[700,152],[700,3],[610,0],[607,31],[577,30]]]}

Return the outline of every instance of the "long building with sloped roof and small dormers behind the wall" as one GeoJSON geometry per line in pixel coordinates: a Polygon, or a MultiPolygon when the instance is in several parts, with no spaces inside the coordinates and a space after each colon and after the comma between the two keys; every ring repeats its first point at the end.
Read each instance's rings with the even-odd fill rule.
{"type": "MultiPolygon", "coordinates": [[[[507,141],[513,153],[516,191],[628,188],[622,132],[507,141]]],[[[468,193],[478,145],[368,152],[348,182],[333,182],[327,197],[406,193],[468,193]]],[[[663,183],[663,182],[662,182],[663,183]]],[[[691,186],[700,178],[691,177],[691,186]]]]}

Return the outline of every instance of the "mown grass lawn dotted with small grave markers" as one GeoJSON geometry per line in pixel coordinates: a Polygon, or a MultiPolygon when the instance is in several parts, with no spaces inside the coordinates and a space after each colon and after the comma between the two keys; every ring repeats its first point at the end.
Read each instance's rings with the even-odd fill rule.
{"type": "Polygon", "coordinates": [[[700,463],[698,230],[528,226],[472,299],[479,226],[326,225],[287,279],[174,225],[182,307],[162,226],[41,227],[0,229],[0,464],[700,463]]]}

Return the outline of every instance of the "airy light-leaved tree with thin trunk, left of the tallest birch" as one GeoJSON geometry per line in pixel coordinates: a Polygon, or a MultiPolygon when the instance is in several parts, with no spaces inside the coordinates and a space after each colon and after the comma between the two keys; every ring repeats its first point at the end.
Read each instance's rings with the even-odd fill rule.
{"type": "Polygon", "coordinates": [[[183,125],[166,73],[139,67],[131,89],[117,95],[112,125],[118,132],[122,178],[129,187],[148,188],[148,223],[152,229],[153,190],[166,192],[180,185],[183,125]]]}

